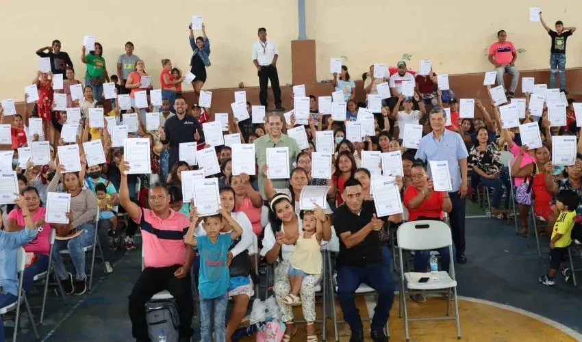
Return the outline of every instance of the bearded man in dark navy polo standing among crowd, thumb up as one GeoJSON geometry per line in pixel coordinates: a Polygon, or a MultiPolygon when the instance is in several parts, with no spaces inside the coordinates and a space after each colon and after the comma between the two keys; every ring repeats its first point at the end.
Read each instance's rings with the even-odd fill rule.
{"type": "Polygon", "coordinates": [[[170,169],[180,157],[181,142],[197,142],[198,146],[204,145],[204,133],[198,120],[187,114],[188,105],[184,96],[177,96],[174,102],[176,115],[172,116],[164,124],[164,130],[160,131],[162,144],[170,144],[170,169]]]}

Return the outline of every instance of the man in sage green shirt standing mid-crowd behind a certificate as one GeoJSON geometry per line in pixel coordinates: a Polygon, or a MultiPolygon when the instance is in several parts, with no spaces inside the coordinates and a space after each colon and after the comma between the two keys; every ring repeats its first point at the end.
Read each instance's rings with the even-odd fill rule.
{"type": "MultiPolygon", "coordinates": [[[[267,163],[267,148],[268,147],[288,147],[289,148],[289,165],[292,166],[297,155],[301,152],[297,142],[292,138],[281,133],[283,128],[283,120],[278,113],[268,114],[266,128],[268,134],[255,140],[255,154],[257,155],[257,165],[259,166],[259,191],[264,200],[265,196],[265,179],[263,176],[263,166],[267,163]]],[[[273,179],[273,187],[275,189],[286,187],[287,179],[273,179]]]]}

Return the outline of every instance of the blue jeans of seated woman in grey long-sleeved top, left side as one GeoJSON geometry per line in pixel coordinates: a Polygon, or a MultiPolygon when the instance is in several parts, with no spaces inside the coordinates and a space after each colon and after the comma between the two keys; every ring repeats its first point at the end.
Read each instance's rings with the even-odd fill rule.
{"type": "Polygon", "coordinates": [[[70,240],[55,240],[53,263],[57,275],[62,280],[68,277],[68,272],[64,266],[62,255],[60,254],[61,250],[68,250],[71,255],[71,261],[73,261],[73,266],[75,266],[75,279],[85,279],[85,252],[83,252],[83,248],[91,246],[94,243],[95,224],[92,222],[81,224],[77,229],[84,231],[84,233],[70,240]]]}

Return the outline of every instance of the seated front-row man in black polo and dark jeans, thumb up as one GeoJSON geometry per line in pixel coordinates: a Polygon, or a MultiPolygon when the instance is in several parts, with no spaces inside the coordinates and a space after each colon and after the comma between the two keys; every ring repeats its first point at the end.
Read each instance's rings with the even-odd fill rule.
{"type": "Polygon", "coordinates": [[[344,184],[344,205],[333,213],[333,226],[340,237],[338,254],[338,298],[352,335],[350,342],[364,341],[364,326],[355,306],[355,290],[364,282],[378,291],[372,318],[372,341],[388,341],[384,326],[394,302],[394,285],[386,272],[378,231],[384,222],[376,218],[371,200],[364,200],[364,188],[356,179],[344,184]]]}

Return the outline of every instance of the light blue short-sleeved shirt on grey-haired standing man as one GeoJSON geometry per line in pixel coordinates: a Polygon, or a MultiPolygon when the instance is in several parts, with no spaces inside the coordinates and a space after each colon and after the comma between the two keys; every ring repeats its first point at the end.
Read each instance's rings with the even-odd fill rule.
{"type": "Polygon", "coordinates": [[[414,158],[422,159],[425,162],[431,160],[448,161],[448,170],[451,172],[451,178],[453,179],[453,192],[458,192],[459,187],[461,187],[459,159],[466,159],[468,156],[469,154],[461,135],[445,129],[440,141],[435,139],[433,132],[422,137],[414,158]]]}

